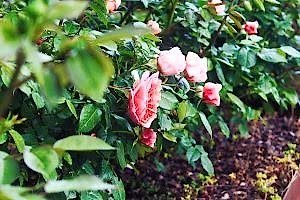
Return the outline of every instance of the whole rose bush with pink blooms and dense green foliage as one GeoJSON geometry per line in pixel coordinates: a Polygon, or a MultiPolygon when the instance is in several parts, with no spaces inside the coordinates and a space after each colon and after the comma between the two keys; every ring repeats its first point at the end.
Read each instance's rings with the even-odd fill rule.
{"type": "MultiPolygon", "coordinates": [[[[0,199],[125,199],[115,169],[295,109],[298,0],[1,1],[0,199]]],[[[201,165],[200,165],[201,163],[201,165]]]]}

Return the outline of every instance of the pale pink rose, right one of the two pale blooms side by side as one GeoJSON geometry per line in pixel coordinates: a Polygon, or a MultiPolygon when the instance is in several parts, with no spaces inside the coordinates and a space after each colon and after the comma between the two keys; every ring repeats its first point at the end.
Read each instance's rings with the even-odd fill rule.
{"type": "Polygon", "coordinates": [[[191,82],[205,82],[207,80],[207,58],[200,58],[194,52],[186,56],[185,77],[191,82]]]}

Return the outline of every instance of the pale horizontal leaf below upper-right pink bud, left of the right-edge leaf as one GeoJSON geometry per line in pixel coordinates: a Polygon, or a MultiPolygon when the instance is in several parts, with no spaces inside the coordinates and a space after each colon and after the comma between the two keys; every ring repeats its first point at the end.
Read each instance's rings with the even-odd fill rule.
{"type": "Polygon", "coordinates": [[[267,49],[263,48],[260,53],[257,54],[262,60],[267,62],[279,63],[287,62],[285,53],[280,49],[267,49]]]}

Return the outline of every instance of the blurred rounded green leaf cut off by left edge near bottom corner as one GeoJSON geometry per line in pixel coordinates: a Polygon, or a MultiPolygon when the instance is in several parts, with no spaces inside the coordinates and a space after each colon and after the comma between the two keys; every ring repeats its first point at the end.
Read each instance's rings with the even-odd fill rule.
{"type": "Polygon", "coordinates": [[[0,184],[11,184],[19,175],[20,167],[15,159],[10,156],[0,159],[0,184]]]}

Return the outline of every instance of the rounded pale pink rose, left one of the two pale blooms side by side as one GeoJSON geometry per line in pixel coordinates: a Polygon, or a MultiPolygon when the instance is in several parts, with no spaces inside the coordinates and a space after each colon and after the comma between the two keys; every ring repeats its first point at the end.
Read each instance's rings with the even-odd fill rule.
{"type": "Polygon", "coordinates": [[[185,56],[179,47],[169,51],[161,51],[157,59],[158,70],[165,76],[172,76],[183,72],[185,69],[185,56]]]}

